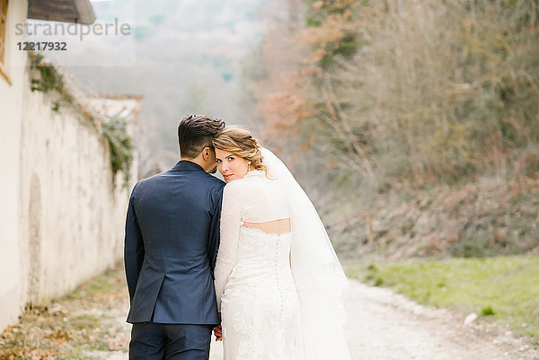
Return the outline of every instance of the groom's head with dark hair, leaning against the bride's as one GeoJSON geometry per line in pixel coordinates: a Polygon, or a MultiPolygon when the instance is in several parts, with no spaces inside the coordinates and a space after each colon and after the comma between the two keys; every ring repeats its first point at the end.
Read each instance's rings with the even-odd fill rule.
{"type": "Polygon", "coordinates": [[[213,140],[225,128],[225,121],[204,115],[188,115],[178,125],[180,157],[198,163],[205,171],[216,171],[213,140]]]}

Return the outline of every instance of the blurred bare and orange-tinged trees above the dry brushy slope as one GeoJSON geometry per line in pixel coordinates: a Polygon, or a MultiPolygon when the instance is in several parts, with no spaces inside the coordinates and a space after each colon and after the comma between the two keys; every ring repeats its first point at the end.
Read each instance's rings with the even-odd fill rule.
{"type": "Polygon", "coordinates": [[[271,138],[376,187],[539,170],[534,0],[283,4],[253,85],[271,138]]]}

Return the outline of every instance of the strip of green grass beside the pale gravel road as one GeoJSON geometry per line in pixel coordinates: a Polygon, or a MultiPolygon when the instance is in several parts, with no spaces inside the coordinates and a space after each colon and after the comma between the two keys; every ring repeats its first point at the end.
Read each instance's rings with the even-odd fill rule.
{"type": "Polygon", "coordinates": [[[475,312],[539,338],[539,257],[344,263],[349,277],[384,285],[418,303],[475,312]]]}

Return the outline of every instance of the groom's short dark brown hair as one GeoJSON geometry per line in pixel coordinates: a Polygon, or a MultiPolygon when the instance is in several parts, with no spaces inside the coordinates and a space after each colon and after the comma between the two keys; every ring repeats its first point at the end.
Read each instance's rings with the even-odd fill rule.
{"type": "Polygon", "coordinates": [[[181,119],[178,124],[181,157],[194,159],[205,147],[214,149],[213,139],[224,128],[225,121],[205,115],[191,114],[181,119]]]}

